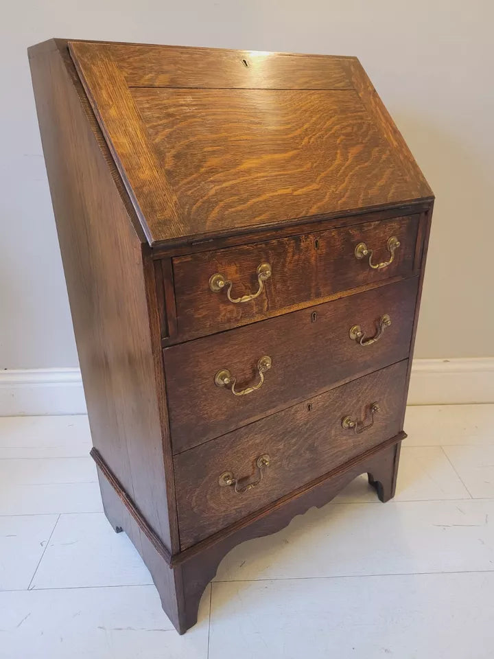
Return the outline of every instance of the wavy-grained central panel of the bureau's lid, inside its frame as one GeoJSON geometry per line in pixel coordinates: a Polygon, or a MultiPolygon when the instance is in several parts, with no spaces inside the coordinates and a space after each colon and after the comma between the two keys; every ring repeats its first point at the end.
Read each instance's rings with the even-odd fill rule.
{"type": "Polygon", "coordinates": [[[183,215],[205,233],[410,198],[355,91],[133,89],[183,215]]]}

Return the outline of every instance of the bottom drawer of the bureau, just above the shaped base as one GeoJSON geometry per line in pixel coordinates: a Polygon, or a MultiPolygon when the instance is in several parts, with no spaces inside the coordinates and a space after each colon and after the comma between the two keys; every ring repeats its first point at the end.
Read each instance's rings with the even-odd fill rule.
{"type": "Polygon", "coordinates": [[[398,362],[174,456],[180,547],[397,435],[407,365],[398,362]]]}

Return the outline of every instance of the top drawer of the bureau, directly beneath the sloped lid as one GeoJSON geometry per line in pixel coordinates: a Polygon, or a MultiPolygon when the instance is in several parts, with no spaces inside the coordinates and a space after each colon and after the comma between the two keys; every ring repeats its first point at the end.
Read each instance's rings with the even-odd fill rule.
{"type": "Polygon", "coordinates": [[[178,336],[213,334],[322,301],[343,290],[390,277],[409,277],[419,267],[414,264],[418,226],[419,216],[414,215],[176,257],[178,336]],[[364,243],[373,250],[373,265],[390,260],[388,241],[392,237],[399,247],[388,266],[371,268],[369,255],[355,257],[355,248],[364,243]],[[266,268],[262,264],[269,264],[268,279],[263,279],[266,268]],[[231,290],[228,283],[221,287],[228,281],[231,290]],[[257,297],[235,302],[228,294],[233,300],[257,297]]]}

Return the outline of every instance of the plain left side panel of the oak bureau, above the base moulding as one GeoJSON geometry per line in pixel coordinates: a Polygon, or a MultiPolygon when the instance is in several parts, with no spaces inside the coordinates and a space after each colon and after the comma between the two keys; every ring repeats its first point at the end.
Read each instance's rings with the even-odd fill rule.
{"type": "Polygon", "coordinates": [[[30,65],[93,444],[174,551],[150,248],[132,224],[68,54],[45,43],[30,49],[30,65]]]}

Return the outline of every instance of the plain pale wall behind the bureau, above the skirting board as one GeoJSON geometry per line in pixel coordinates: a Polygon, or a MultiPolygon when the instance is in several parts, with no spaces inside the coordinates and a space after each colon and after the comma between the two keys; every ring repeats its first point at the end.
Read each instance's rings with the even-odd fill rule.
{"type": "Polygon", "coordinates": [[[0,369],[77,365],[25,52],[51,36],[358,56],[437,197],[416,356],[494,356],[492,0],[19,0],[2,23],[0,369]]]}

